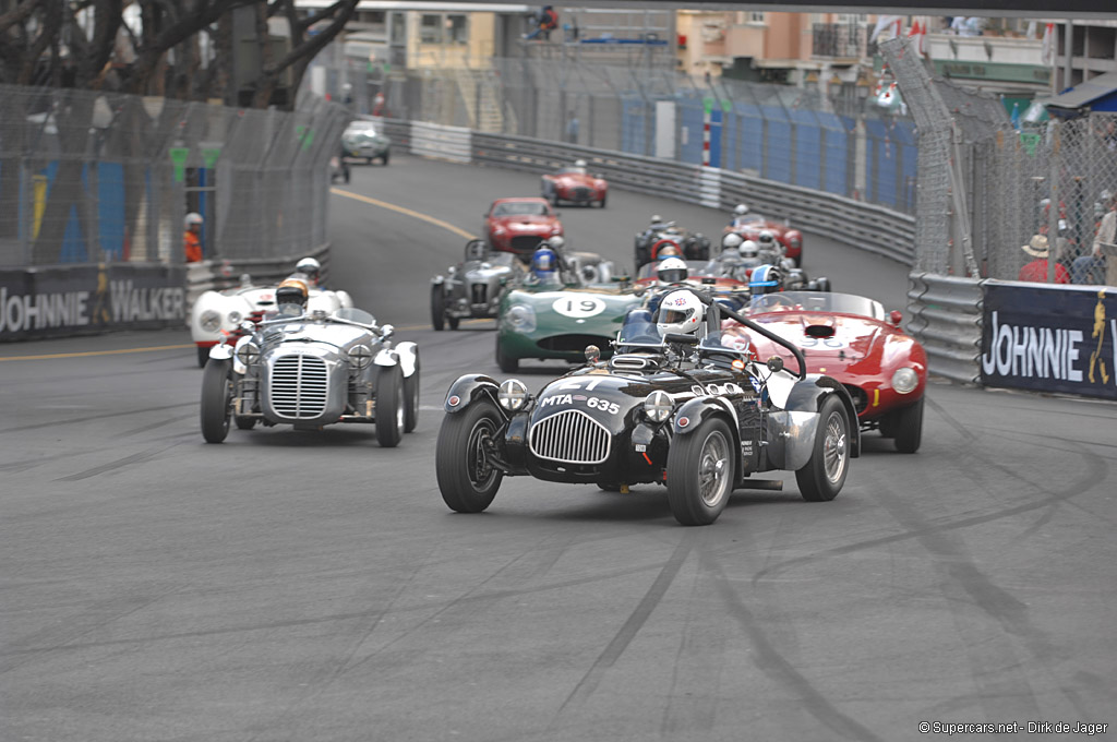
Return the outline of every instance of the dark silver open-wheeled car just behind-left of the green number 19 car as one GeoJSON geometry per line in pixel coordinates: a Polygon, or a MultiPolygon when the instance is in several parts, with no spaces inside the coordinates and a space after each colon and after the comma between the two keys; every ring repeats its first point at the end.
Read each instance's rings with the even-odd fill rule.
{"type": "Polygon", "coordinates": [[[465,260],[430,282],[430,323],[435,330],[468,317],[495,317],[505,286],[518,284],[523,264],[514,253],[490,253],[483,239],[466,242],[465,260]]]}

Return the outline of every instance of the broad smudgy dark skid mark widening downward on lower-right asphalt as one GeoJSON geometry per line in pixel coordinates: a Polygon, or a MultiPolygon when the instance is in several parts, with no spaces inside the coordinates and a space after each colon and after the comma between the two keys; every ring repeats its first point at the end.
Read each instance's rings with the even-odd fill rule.
{"type": "Polygon", "coordinates": [[[1031,654],[1047,663],[1057,655],[1050,637],[1031,624],[1023,601],[978,569],[961,539],[949,532],[926,529],[926,519],[915,507],[892,496],[875,474],[869,473],[868,477],[873,484],[870,489],[873,500],[896,522],[916,533],[919,545],[932,556],[930,568],[941,578],[943,602],[949,608],[955,631],[965,646],[970,681],[977,688],[974,700],[986,719],[999,714],[1040,719],[1040,703],[1028,679],[1027,663],[1014,643],[1022,641],[1031,654]],[[975,615],[975,610],[985,618],[975,615]],[[990,626],[989,619],[995,627],[990,626]]]}

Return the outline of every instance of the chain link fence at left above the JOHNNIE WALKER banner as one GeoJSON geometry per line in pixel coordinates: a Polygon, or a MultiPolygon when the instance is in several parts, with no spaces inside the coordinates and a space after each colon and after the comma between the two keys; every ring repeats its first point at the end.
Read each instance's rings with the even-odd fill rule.
{"type": "Polygon", "coordinates": [[[181,263],[183,218],[207,259],[326,240],[328,160],[352,115],[0,86],[0,266],[181,263]]]}

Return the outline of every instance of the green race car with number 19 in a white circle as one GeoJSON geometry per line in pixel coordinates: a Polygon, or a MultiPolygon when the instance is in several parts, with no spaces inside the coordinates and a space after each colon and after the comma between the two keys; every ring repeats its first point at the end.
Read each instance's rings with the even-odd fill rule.
{"type": "Polygon", "coordinates": [[[528,283],[507,291],[497,318],[497,365],[510,373],[521,359],[581,363],[586,345],[596,345],[608,358],[624,315],[641,302],[627,283],[528,283]]]}

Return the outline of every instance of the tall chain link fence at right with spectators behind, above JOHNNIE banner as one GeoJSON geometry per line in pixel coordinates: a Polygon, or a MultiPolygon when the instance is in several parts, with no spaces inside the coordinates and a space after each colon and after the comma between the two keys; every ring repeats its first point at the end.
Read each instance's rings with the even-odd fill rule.
{"type": "Polygon", "coordinates": [[[1111,244],[1099,230],[1117,193],[1117,114],[1014,124],[997,98],[933,77],[906,40],[880,50],[918,126],[916,270],[1117,282],[1091,259],[1111,244]]]}

